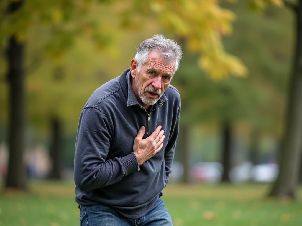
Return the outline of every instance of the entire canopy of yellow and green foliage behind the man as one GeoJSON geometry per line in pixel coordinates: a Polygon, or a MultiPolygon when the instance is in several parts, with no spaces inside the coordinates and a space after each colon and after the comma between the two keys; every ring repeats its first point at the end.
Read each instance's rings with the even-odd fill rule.
{"type": "MultiPolygon", "coordinates": [[[[273,1],[250,2],[266,7],[273,1]]],[[[8,3],[0,3],[2,12],[8,3]]],[[[291,17],[284,9],[262,7],[263,16],[249,13],[246,1],[217,3],[33,0],[12,15],[0,14],[0,49],[5,49],[11,34],[26,44],[28,123],[47,137],[49,119],[55,115],[63,121],[64,132],[74,134],[93,90],[129,67],[141,40],[162,31],[178,39],[185,50],[172,81],[182,96],[182,123],[210,122],[212,127],[213,121],[241,119],[279,135],[281,123],[276,122],[283,116],[291,17]],[[246,72],[222,43],[226,52],[244,62],[249,77],[220,80],[246,72]]],[[[0,119],[5,121],[9,100],[3,54],[0,119]]]]}

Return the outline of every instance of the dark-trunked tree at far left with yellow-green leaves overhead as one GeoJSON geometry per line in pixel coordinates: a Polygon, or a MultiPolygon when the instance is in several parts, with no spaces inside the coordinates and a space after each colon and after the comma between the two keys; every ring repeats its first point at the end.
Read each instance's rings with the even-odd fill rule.
{"type": "MultiPolygon", "coordinates": [[[[53,0],[47,2],[2,1],[0,3],[0,9],[4,12],[0,14],[0,44],[1,49],[6,49],[7,52],[6,73],[10,84],[9,163],[6,187],[26,188],[26,170],[23,162],[25,118],[23,62],[26,54],[23,52],[28,41],[27,36],[36,24],[47,27],[53,36],[45,46],[46,52],[52,58],[58,59],[72,45],[73,36],[85,30],[89,25],[85,22],[75,24],[79,15],[85,15],[87,12],[86,5],[89,2],[53,0]]],[[[91,24],[95,24],[95,21],[92,22],[91,24]]],[[[98,32],[99,30],[92,32],[95,42],[98,45],[106,45],[107,43],[104,43],[106,39],[103,39],[104,36],[99,35],[98,32]]],[[[39,58],[40,56],[37,57],[39,58]]]]}

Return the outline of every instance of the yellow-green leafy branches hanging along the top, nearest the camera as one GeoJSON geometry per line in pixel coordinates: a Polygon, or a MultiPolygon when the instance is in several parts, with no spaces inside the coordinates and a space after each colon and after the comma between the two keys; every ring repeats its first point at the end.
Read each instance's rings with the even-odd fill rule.
{"type": "MultiPolygon", "coordinates": [[[[101,1],[103,2],[103,1],[101,1]]],[[[120,15],[124,28],[142,30],[143,22],[155,19],[156,23],[188,42],[191,51],[198,52],[199,65],[213,79],[221,79],[229,74],[243,76],[246,68],[242,62],[227,54],[221,45],[221,37],[232,31],[231,23],[234,14],[223,9],[217,1],[134,1],[126,3],[110,1],[111,10],[120,15]],[[141,25],[141,26],[140,26],[141,25]],[[202,56],[201,56],[202,54],[202,56]]],[[[3,11],[8,8],[8,2],[1,5],[3,11]]],[[[101,4],[102,5],[102,4],[101,4]]],[[[3,14],[0,23],[0,34],[3,37],[14,35],[19,42],[25,42],[32,27],[42,24],[49,27],[53,38],[48,43],[48,51],[53,57],[58,57],[72,43],[76,33],[90,30],[91,37],[100,46],[107,46],[110,38],[104,31],[98,32],[105,24],[90,16],[99,9],[97,1],[24,1],[20,10],[3,14]],[[88,19],[86,19],[86,16],[88,19]],[[89,27],[93,28],[90,29],[89,27]]]]}

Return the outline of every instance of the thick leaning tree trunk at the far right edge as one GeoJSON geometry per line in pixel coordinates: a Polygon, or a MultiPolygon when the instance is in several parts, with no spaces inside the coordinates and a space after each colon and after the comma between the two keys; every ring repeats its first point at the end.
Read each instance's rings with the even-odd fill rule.
{"type": "Polygon", "coordinates": [[[296,198],[302,150],[302,0],[295,7],[296,48],[290,80],[285,139],[281,149],[280,171],[269,196],[296,198]]]}

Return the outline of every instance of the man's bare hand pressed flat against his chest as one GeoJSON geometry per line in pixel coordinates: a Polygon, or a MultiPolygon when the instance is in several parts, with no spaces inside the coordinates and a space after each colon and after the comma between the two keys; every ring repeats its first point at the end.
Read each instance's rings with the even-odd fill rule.
{"type": "Polygon", "coordinates": [[[142,165],[148,159],[151,159],[156,153],[158,153],[164,144],[162,143],[165,139],[164,130],[160,130],[162,126],[156,127],[156,130],[143,139],[145,134],[145,127],[140,127],[137,136],[134,139],[133,152],[136,155],[138,165],[142,165]]]}

